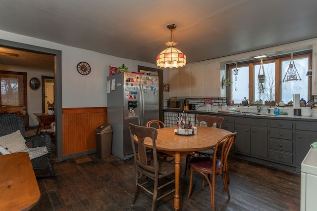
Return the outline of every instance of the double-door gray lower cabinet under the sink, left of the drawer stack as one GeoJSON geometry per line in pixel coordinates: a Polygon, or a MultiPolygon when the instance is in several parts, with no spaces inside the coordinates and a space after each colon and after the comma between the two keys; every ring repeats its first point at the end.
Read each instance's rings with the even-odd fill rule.
{"type": "Polygon", "coordinates": [[[235,151],[267,158],[267,120],[236,118],[235,151]]]}

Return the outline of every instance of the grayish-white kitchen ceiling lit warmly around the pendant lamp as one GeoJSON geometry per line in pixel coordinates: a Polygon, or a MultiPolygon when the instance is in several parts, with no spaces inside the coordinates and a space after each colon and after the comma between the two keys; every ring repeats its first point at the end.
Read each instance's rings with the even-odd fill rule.
{"type": "Polygon", "coordinates": [[[175,23],[192,63],[317,38],[316,9],[317,0],[1,0],[0,30],[156,63],[175,23]]]}

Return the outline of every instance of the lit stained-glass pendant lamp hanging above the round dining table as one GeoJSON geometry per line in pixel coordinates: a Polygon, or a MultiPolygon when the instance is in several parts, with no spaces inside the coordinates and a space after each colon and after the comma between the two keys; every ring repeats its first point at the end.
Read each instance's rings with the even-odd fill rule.
{"type": "Polygon", "coordinates": [[[186,55],[175,48],[178,43],[172,41],[172,30],[176,28],[176,24],[168,24],[166,27],[170,29],[170,42],[165,43],[168,47],[157,56],[157,65],[164,68],[183,67],[186,65],[186,55]]]}

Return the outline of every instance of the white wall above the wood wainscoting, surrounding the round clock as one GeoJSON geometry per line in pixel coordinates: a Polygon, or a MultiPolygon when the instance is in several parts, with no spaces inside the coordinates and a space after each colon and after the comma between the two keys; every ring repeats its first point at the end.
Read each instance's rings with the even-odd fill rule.
{"type": "MultiPolygon", "coordinates": [[[[0,38],[2,40],[21,42],[62,51],[63,108],[106,107],[106,77],[109,73],[110,64],[117,67],[124,64],[131,72],[137,72],[138,65],[157,68],[155,58],[153,58],[153,64],[151,64],[26,37],[2,30],[0,30],[0,38]],[[76,70],[76,65],[81,61],[86,61],[91,66],[91,72],[87,76],[80,75],[76,70]]],[[[42,107],[40,111],[42,111],[42,107]]]]}

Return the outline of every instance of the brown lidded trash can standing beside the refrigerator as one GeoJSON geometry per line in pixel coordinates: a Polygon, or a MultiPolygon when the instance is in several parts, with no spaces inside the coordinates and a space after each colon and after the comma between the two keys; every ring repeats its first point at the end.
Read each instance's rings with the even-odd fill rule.
{"type": "Polygon", "coordinates": [[[112,127],[109,123],[95,129],[97,156],[101,159],[109,158],[111,155],[112,127]]]}

